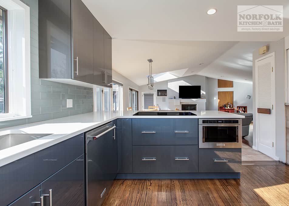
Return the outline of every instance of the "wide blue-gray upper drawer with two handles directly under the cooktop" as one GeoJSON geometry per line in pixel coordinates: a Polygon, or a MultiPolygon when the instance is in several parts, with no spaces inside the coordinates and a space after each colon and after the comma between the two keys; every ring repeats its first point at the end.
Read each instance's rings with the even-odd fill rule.
{"type": "Polygon", "coordinates": [[[198,145],[197,119],[132,119],[133,145],[198,145]]]}

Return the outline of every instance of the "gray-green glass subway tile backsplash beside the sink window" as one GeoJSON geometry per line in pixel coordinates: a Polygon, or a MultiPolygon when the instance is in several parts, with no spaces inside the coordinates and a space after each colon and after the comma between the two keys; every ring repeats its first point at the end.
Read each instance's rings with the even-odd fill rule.
{"type": "Polygon", "coordinates": [[[92,88],[61,84],[38,78],[38,1],[25,0],[22,2],[30,6],[31,111],[33,117],[2,121],[0,128],[93,111],[92,88]],[[67,98],[73,99],[73,108],[66,108],[67,98]]]}

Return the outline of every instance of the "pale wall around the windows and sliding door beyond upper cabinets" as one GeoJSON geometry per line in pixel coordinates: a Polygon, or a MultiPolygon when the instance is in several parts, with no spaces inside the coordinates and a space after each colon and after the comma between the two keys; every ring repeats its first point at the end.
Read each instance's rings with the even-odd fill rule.
{"type": "MultiPolygon", "coordinates": [[[[112,70],[112,77],[114,80],[119,81],[120,83],[123,83],[124,85],[123,86],[123,110],[126,110],[127,107],[129,107],[129,96],[128,96],[129,88],[139,90],[139,86],[114,70],[112,70]]],[[[141,106],[141,103],[139,102],[138,105],[141,106]]]]}

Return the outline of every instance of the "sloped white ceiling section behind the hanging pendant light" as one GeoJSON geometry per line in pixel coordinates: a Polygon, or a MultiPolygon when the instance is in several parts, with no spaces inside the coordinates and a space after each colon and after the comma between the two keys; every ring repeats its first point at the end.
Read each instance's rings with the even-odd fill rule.
{"type": "Polygon", "coordinates": [[[237,43],[113,39],[112,67],[136,84],[145,85],[149,75],[147,59],[153,60],[153,74],[174,71],[172,75],[189,76],[201,71],[237,43]]]}

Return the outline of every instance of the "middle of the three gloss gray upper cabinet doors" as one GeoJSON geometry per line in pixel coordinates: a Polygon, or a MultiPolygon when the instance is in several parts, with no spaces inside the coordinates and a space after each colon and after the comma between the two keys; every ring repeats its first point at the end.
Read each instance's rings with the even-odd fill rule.
{"type": "Polygon", "coordinates": [[[96,18],[93,19],[93,62],[94,83],[104,84],[104,28],[96,18]]]}

